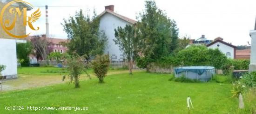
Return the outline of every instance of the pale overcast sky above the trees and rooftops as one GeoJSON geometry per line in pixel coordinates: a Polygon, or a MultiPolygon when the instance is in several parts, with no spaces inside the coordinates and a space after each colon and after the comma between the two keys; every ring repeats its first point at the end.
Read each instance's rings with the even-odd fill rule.
{"type": "MultiPolygon", "coordinates": [[[[48,5],[49,32],[55,38],[67,38],[61,23],[63,18],[74,16],[80,9],[97,14],[105,10],[104,6],[115,5],[115,12],[128,18],[144,9],[144,0],[26,0],[37,6],[48,5]],[[75,7],[51,7],[75,6],[75,7]]],[[[174,19],[179,28],[179,36],[197,39],[205,35],[209,40],[224,38],[234,45],[246,45],[250,42],[249,30],[254,29],[256,18],[256,0],[155,0],[158,8],[164,10],[168,17],[174,19]]],[[[40,7],[42,16],[35,23],[38,31],[27,28],[32,35],[45,34],[45,7],[40,7]]],[[[28,14],[30,14],[29,12],[28,14]]]]}

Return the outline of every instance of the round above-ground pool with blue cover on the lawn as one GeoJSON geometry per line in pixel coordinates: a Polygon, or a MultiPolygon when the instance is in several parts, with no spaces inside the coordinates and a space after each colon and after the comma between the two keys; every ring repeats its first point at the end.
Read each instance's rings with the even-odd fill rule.
{"type": "Polygon", "coordinates": [[[202,82],[209,81],[215,74],[215,68],[212,66],[185,66],[174,69],[175,77],[186,77],[189,79],[197,79],[202,82]]]}

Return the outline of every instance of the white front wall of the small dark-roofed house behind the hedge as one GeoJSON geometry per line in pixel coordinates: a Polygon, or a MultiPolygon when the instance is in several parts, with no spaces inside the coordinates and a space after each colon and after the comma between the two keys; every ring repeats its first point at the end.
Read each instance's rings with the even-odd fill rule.
{"type": "Polygon", "coordinates": [[[226,56],[227,56],[227,53],[229,52],[230,56],[227,56],[227,57],[230,59],[234,59],[234,48],[232,48],[226,44],[223,44],[221,42],[216,42],[215,44],[209,46],[208,48],[219,48],[221,50],[221,52],[223,54],[225,54],[226,56]],[[219,45],[219,47],[218,47],[218,45],[219,45]]]}

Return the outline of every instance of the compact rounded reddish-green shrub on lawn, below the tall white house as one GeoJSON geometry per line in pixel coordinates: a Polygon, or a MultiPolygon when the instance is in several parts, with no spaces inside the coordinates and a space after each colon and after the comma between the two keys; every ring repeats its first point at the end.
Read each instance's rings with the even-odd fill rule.
{"type": "Polygon", "coordinates": [[[104,82],[104,78],[108,72],[109,63],[110,60],[108,55],[97,55],[92,62],[94,73],[99,78],[100,83],[104,82]]]}

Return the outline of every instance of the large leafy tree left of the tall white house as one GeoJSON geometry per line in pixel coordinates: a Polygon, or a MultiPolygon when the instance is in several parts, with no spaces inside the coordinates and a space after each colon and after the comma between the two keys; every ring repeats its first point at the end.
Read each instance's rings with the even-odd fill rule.
{"type": "Polygon", "coordinates": [[[103,54],[108,39],[105,33],[99,30],[100,18],[97,17],[95,10],[92,18],[89,14],[85,16],[80,10],[74,17],[64,19],[62,25],[70,40],[67,43],[69,54],[73,52],[80,56],[86,54],[87,60],[90,56],[103,54]]]}

